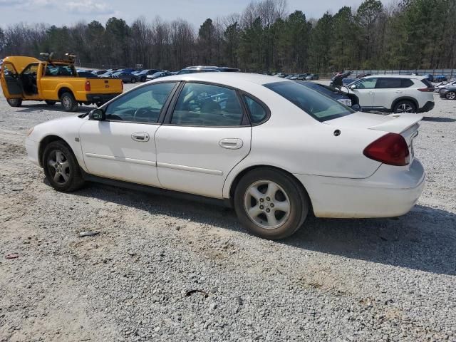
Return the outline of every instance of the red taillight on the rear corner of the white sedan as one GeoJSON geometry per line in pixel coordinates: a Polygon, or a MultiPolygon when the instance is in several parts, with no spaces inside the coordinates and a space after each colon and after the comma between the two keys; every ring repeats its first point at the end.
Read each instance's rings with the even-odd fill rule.
{"type": "Polygon", "coordinates": [[[363,153],[368,158],[388,165],[404,166],[410,162],[407,142],[402,135],[396,133],[378,138],[363,153]]]}

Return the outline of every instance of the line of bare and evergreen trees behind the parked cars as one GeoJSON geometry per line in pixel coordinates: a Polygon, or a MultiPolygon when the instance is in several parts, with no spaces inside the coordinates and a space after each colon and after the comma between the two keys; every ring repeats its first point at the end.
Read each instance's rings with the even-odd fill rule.
{"type": "Polygon", "coordinates": [[[184,19],[128,25],[110,18],[72,26],[0,27],[0,57],[76,53],[81,64],[170,71],[216,65],[252,72],[327,73],[343,69],[454,68],[456,1],[365,0],[320,19],[289,11],[286,0],[260,0],[241,13],[207,19],[195,29],[184,19]]]}

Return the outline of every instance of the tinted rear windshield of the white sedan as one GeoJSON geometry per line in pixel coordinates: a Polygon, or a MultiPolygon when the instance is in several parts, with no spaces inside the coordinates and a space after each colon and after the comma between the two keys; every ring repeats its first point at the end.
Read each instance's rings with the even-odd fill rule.
{"type": "Polygon", "coordinates": [[[332,120],[354,113],[354,110],[337,100],[297,82],[275,82],[263,86],[294,103],[318,121],[332,120]]]}

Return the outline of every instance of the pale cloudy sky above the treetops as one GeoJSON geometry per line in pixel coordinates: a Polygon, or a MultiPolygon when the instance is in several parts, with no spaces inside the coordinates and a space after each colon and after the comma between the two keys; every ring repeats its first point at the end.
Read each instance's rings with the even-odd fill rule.
{"type": "MultiPolygon", "coordinates": [[[[382,0],[389,4],[394,0],[382,0]]],[[[128,24],[139,16],[152,20],[186,19],[199,27],[207,18],[240,13],[250,0],[0,0],[0,25],[17,22],[28,24],[75,24],[98,20],[103,24],[111,16],[128,24]]],[[[289,11],[299,9],[307,18],[319,18],[326,11],[335,13],[341,6],[358,7],[362,0],[287,0],[289,11]]]]}

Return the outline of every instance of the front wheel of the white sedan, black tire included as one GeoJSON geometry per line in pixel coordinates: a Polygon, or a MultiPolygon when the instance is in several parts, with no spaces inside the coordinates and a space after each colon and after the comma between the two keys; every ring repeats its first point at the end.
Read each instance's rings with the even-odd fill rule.
{"type": "Polygon", "coordinates": [[[78,161],[63,141],[53,141],[46,146],[42,165],[46,180],[55,190],[72,192],[84,185],[78,161]],[[62,157],[58,157],[59,154],[62,157]]]}

